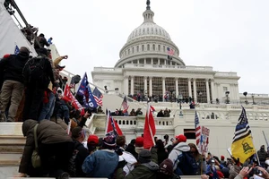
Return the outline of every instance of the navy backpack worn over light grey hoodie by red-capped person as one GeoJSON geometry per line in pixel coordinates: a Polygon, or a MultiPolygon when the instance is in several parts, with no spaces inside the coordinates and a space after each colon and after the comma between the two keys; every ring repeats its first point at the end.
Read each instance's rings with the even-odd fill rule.
{"type": "Polygon", "coordinates": [[[182,153],[178,155],[178,161],[178,166],[175,171],[177,175],[196,175],[198,166],[190,151],[182,151],[182,153]]]}

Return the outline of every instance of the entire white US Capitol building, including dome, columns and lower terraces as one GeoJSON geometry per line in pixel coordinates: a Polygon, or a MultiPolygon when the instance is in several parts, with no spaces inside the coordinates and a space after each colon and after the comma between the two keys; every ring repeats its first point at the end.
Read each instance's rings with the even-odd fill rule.
{"type": "MultiPolygon", "coordinates": [[[[169,33],[153,21],[154,13],[147,1],[143,12],[143,23],[134,29],[120,49],[119,60],[114,67],[95,67],[91,72],[92,82],[100,87],[107,86],[104,93],[103,108],[120,107],[124,95],[139,92],[147,96],[161,96],[175,93],[178,97],[191,97],[198,104],[190,109],[188,104],[177,102],[152,103],[157,112],[171,109],[170,117],[155,117],[156,136],[163,139],[165,134],[174,137],[185,133],[188,142],[195,142],[195,111],[200,124],[210,129],[209,150],[217,156],[229,156],[238,123],[241,106],[246,108],[249,125],[256,141],[256,148],[265,144],[268,133],[269,98],[267,94],[240,94],[237,72],[217,72],[211,66],[188,66],[179,57],[179,49],[171,40],[169,33]],[[168,49],[174,53],[168,60],[168,49]],[[117,91],[113,93],[113,91],[117,91]],[[219,101],[219,102],[217,102],[219,101]],[[193,134],[191,134],[193,133],[193,134]]],[[[143,108],[146,102],[128,101],[132,108],[143,108]]],[[[155,114],[156,115],[156,114],[155,114]]],[[[117,123],[126,135],[127,141],[143,133],[144,115],[115,116],[117,123]]],[[[106,116],[94,115],[90,128],[92,132],[104,133],[106,116]],[[102,120],[101,120],[102,119],[102,120]]]]}

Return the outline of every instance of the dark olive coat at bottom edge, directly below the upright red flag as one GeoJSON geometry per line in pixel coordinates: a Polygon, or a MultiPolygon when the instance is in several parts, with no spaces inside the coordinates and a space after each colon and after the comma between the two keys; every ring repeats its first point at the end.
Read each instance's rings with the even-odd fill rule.
{"type": "Polygon", "coordinates": [[[155,179],[159,166],[154,162],[138,164],[129,175],[124,175],[123,169],[117,169],[117,179],[155,179]]]}

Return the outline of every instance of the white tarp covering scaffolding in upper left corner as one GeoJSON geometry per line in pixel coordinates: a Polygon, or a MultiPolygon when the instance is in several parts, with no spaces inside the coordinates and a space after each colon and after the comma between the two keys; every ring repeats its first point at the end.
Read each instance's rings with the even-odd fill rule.
{"type": "Polygon", "coordinates": [[[0,0],[0,58],[5,54],[14,54],[15,47],[29,47],[31,55],[37,55],[30,46],[21,30],[17,27],[13,18],[4,7],[4,0],[0,0]]]}

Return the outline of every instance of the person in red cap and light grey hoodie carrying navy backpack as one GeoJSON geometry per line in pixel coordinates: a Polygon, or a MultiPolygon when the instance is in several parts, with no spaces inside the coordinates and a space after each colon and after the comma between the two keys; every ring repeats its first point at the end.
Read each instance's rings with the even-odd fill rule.
{"type": "Polygon", "coordinates": [[[175,137],[176,140],[173,142],[174,148],[169,153],[169,159],[173,162],[173,170],[175,171],[178,166],[178,156],[182,154],[182,152],[187,152],[190,150],[190,147],[187,145],[187,138],[185,135],[180,134],[175,137]]]}

